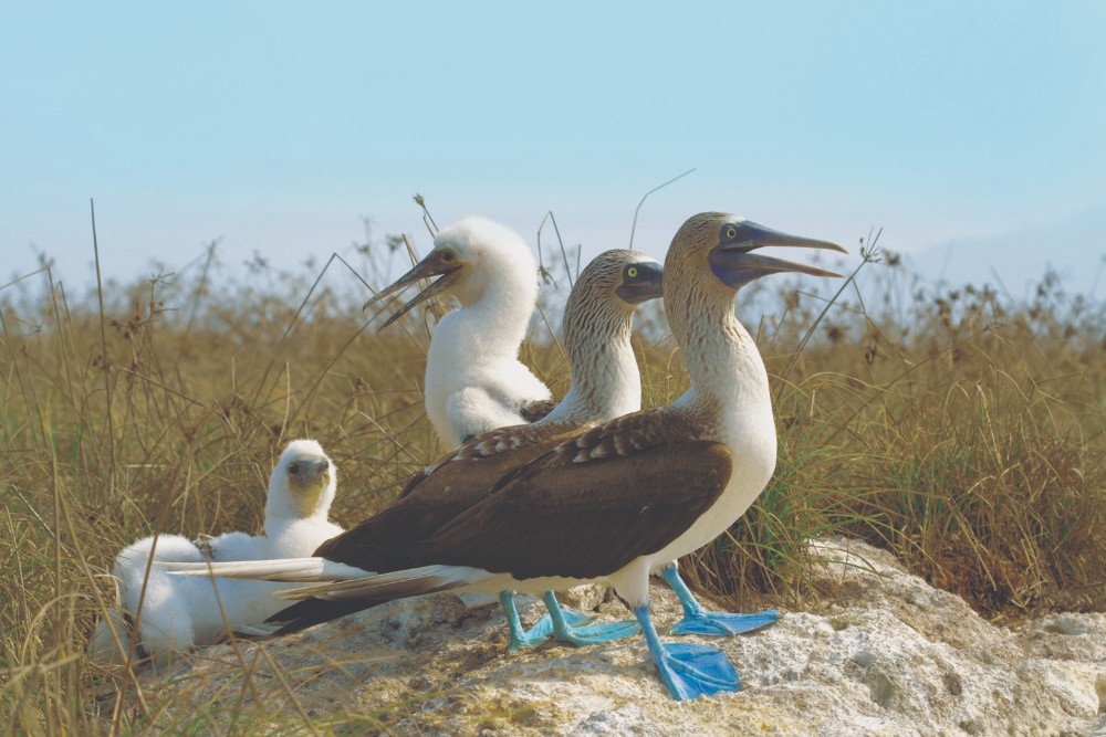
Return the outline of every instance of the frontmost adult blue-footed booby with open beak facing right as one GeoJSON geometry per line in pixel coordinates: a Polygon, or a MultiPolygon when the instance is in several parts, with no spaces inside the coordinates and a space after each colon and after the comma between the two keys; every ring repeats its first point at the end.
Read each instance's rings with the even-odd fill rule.
{"type": "MultiPolygon", "coordinates": [[[[385,601],[430,591],[539,593],[606,582],[634,610],[678,699],[737,691],[720,650],[664,644],[649,617],[649,573],[723,533],[763,491],[776,436],[764,364],[733,310],[737,291],[778,272],[836,276],[753,251],[843,251],[708,212],[676,233],[665,261],[665,309],[691,380],[668,408],[627,414],[509,472],[440,527],[409,570],[369,575],[355,546],[343,580],[288,598],[385,601]],[[363,577],[355,578],[357,569],[363,577]]],[[[336,578],[337,576],[335,576],[336,578]]]]}

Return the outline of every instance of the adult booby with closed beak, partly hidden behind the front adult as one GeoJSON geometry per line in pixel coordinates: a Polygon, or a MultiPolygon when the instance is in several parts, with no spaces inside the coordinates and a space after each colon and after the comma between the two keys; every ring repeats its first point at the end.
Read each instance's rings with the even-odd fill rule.
{"type": "MultiPolygon", "coordinates": [[[[416,474],[393,506],[321,546],[314,561],[222,565],[213,566],[212,570],[221,576],[290,576],[291,580],[316,569],[325,559],[353,555],[349,548],[356,548],[362,562],[372,565],[377,572],[406,568],[411,549],[482,499],[504,473],[586,428],[640,409],[640,375],[630,346],[633,313],[636,305],[661,296],[661,282],[660,264],[643,253],[612,250],[599,254],[581,273],[565,305],[563,335],[572,381],[567,394],[550,414],[530,425],[484,433],[451,452],[438,464],[416,474]],[[281,569],[283,564],[286,570],[281,569]]],[[[207,573],[206,567],[196,569],[207,573]]],[[[542,642],[551,632],[561,640],[586,644],[638,631],[634,622],[573,629],[587,618],[561,610],[551,592],[543,599],[551,617],[524,632],[513,596],[501,594],[511,629],[511,650],[542,642]]],[[[303,602],[281,612],[279,619],[285,622],[281,632],[364,607],[356,601],[303,602]]]]}

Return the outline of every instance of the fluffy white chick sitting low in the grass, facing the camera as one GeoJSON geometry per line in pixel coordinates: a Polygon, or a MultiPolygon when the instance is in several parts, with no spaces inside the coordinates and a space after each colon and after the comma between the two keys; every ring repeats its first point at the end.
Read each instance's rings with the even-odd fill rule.
{"type": "Polygon", "coordinates": [[[337,483],[333,462],[313,440],[289,443],[269,480],[264,535],[227,533],[192,543],[179,535],[147,537],[127,546],[116,558],[119,609],[101,620],[93,633],[94,660],[125,663],[134,643],[134,660],[169,651],[189,651],[217,642],[228,630],[268,633],[265,618],[283,607],[274,592],[286,583],[178,578],[150,566],[156,561],[199,562],[300,557],[343,530],[327,520],[337,483]],[[226,619],[223,619],[226,615],[226,619]],[[134,624],[137,623],[137,628],[134,624]],[[114,633],[113,633],[114,630],[114,633]]]}

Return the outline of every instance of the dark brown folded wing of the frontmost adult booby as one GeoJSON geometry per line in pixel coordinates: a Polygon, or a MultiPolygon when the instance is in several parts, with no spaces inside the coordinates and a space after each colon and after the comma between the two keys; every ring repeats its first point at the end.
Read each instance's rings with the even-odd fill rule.
{"type": "Polygon", "coordinates": [[[420,564],[594,578],[660,550],[710,508],[732,464],[721,443],[681,439],[693,431],[643,417],[607,423],[517,470],[445,525],[420,564]]]}

